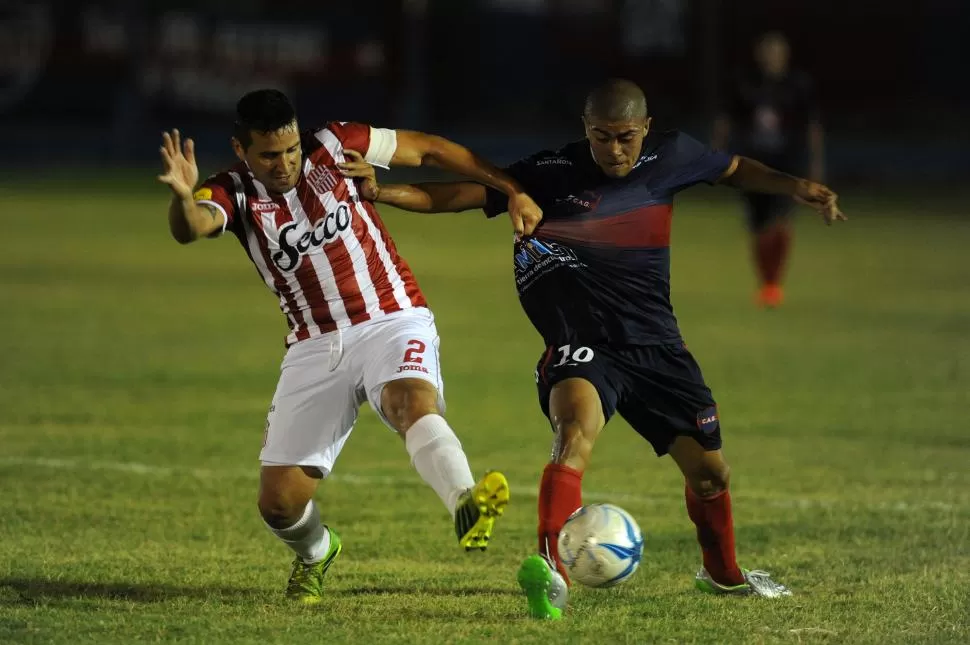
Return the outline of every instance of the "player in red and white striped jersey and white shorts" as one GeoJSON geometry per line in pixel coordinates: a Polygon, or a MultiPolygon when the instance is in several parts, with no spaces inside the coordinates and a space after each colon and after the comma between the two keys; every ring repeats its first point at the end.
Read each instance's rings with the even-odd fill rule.
{"type": "Polygon", "coordinates": [[[438,334],[407,263],[373,204],[337,164],[350,151],[381,165],[433,164],[508,196],[522,232],[541,216],[517,181],[467,149],[419,132],[331,122],[301,132],[286,96],[258,90],[236,109],[239,163],[196,189],[194,143],[162,135],[172,191],[172,236],[187,244],[231,231],[279,298],[287,351],[260,453],[259,511],[296,558],[287,595],[320,601],[340,554],[337,533],[313,502],[368,401],[403,439],[418,474],[454,517],[458,542],[485,549],[508,483],[490,472],[477,484],[461,443],[441,416],[438,334]]]}

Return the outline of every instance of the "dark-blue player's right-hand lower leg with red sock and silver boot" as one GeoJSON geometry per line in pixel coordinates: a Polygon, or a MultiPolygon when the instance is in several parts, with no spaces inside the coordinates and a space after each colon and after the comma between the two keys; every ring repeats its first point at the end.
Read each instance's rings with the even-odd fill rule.
{"type": "Polygon", "coordinates": [[[728,490],[731,469],[720,450],[704,450],[692,437],[677,437],[670,447],[686,480],[687,514],[697,527],[704,566],[697,573],[697,588],[708,593],[790,595],[763,571],[738,566],[734,548],[734,520],[728,490]]]}

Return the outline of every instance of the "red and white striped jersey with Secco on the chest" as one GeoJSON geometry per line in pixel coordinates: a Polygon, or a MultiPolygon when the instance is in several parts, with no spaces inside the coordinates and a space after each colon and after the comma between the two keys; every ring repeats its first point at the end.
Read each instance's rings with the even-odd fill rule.
{"type": "Polygon", "coordinates": [[[336,167],[345,148],[387,164],[396,149],[394,131],[334,122],[301,140],[303,172],[289,192],[268,192],[239,163],[195,193],[197,203],[222,211],[223,230],[236,235],[279,297],[290,326],[287,346],[427,306],[374,205],[336,167]]]}

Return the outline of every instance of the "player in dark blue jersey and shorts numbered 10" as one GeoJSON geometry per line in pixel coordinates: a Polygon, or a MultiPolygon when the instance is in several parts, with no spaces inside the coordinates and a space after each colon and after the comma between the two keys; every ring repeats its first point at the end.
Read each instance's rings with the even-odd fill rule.
{"type": "MultiPolygon", "coordinates": [[[[717,406],[681,338],[670,304],[674,195],[694,184],[788,195],[827,223],[844,219],[827,187],[746,157],[715,152],[677,131],[651,129],[643,92],[612,80],[590,93],[586,138],[507,169],[542,208],[538,223],[515,222],[519,299],[546,348],[536,368],[539,401],[555,432],[539,491],[539,555],[519,582],[533,616],[558,618],[549,600],[559,574],[557,537],[582,506],[581,480],[593,444],[619,413],[683,473],[709,593],[787,595],[763,571],[738,566],[729,468],[717,406]]],[[[380,186],[360,162],[343,167],[365,196],[421,212],[505,210],[501,195],[471,182],[380,186]]],[[[560,594],[560,598],[564,594],[560,594]]]]}

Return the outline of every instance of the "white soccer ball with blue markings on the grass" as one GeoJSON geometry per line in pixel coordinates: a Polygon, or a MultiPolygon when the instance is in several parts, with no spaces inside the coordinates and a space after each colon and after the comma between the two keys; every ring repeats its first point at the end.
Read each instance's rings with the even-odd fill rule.
{"type": "Polygon", "coordinates": [[[559,533],[559,559],[569,577],[587,587],[613,587],[640,566],[643,535],[619,506],[588,504],[566,520],[559,533]]]}

